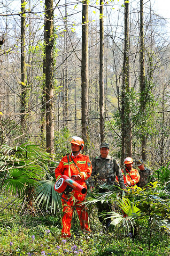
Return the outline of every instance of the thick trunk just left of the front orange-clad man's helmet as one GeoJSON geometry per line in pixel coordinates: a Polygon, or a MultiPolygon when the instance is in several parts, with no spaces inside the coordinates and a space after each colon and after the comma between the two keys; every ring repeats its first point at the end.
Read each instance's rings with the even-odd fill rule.
{"type": "Polygon", "coordinates": [[[46,151],[54,153],[54,84],[53,84],[53,0],[45,1],[45,43],[46,43],[46,151]]]}

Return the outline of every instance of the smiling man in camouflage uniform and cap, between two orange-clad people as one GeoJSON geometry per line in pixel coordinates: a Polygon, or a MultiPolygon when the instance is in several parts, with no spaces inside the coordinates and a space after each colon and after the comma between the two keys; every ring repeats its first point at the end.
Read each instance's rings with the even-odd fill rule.
{"type": "MultiPolygon", "coordinates": [[[[95,157],[92,161],[92,175],[89,180],[91,190],[94,189],[94,185],[98,188],[100,185],[108,184],[108,185],[117,185],[116,176],[118,177],[120,187],[125,189],[124,178],[121,172],[120,166],[115,158],[108,155],[109,152],[109,144],[101,143],[100,145],[100,156],[95,157]]],[[[107,189],[99,189],[99,192],[104,193],[107,192],[107,189]]],[[[97,203],[98,206],[98,214],[99,220],[101,223],[106,224],[106,227],[109,227],[111,218],[106,220],[104,223],[104,217],[100,216],[102,212],[111,212],[111,206],[107,203],[101,204],[101,202],[97,203]]],[[[107,215],[109,217],[110,215],[107,215]]]]}

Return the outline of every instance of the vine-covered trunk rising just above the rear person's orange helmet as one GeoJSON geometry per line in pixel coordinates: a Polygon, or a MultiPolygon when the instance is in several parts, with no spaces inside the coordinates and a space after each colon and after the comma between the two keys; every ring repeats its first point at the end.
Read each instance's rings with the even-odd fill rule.
{"type": "Polygon", "coordinates": [[[126,157],[132,156],[131,138],[131,106],[128,94],[130,93],[130,64],[129,64],[129,3],[124,3],[124,63],[121,95],[121,120],[122,120],[122,156],[121,164],[126,157]]]}

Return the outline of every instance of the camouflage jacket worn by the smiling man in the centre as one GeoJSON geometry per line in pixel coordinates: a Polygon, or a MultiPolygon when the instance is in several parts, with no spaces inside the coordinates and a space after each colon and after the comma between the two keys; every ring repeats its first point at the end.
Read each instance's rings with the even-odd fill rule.
{"type": "Polygon", "coordinates": [[[111,181],[111,184],[117,184],[115,182],[117,176],[120,187],[122,189],[125,188],[124,177],[121,172],[120,166],[115,158],[108,156],[103,159],[100,155],[99,157],[95,157],[93,159],[92,167],[92,175],[89,179],[90,186],[93,187],[96,183],[104,184],[108,179],[111,181]]]}

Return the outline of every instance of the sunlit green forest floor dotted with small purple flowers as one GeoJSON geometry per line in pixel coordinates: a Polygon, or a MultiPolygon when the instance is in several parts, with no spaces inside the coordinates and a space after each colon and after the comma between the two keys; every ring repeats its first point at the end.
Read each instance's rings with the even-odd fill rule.
{"type": "Polygon", "coordinates": [[[63,239],[58,217],[48,212],[19,215],[20,208],[17,202],[0,209],[0,256],[170,256],[170,235],[163,230],[152,231],[149,250],[150,231],[140,224],[131,239],[120,226],[109,231],[90,215],[92,233],[87,238],[78,231],[74,215],[72,238],[63,239]]]}

